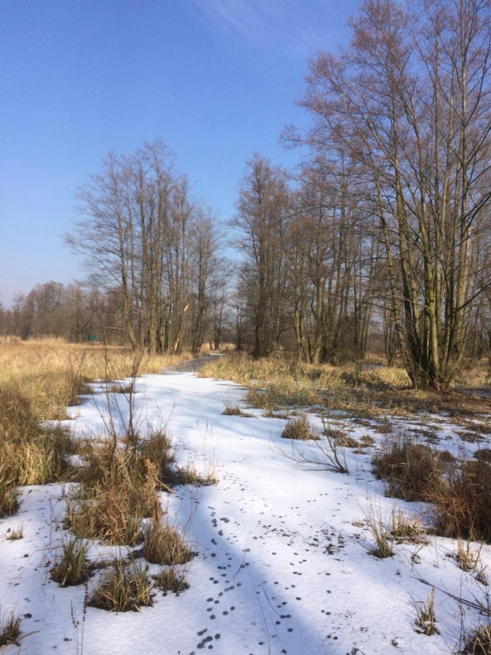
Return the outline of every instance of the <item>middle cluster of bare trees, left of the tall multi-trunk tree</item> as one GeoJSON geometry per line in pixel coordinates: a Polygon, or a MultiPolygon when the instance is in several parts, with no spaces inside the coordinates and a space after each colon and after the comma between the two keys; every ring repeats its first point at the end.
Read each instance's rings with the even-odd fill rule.
{"type": "Polygon", "coordinates": [[[244,253],[236,296],[238,344],[264,356],[293,333],[304,361],[362,358],[373,307],[371,234],[361,210],[322,166],[292,180],[259,155],[248,162],[231,221],[244,253]]]}

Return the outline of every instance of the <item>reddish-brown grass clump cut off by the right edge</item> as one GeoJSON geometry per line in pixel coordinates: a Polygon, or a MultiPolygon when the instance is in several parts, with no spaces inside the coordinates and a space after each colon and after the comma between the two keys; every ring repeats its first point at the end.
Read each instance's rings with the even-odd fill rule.
{"type": "Polygon", "coordinates": [[[437,508],[444,536],[491,542],[491,465],[464,460],[445,480],[433,480],[428,500],[437,508]]]}

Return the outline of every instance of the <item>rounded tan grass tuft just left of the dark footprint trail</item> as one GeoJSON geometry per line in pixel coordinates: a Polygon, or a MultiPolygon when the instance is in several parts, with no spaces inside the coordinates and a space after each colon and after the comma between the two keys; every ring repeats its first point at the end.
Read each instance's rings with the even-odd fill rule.
{"type": "Polygon", "coordinates": [[[185,564],[194,555],[187,547],[183,534],[168,523],[153,519],[143,542],[143,557],[147,562],[160,565],[185,564]]]}

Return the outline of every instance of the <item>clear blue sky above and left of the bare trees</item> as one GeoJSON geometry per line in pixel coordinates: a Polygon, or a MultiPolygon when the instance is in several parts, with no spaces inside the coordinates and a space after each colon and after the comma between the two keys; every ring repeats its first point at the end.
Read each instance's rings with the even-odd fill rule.
{"type": "Polygon", "coordinates": [[[308,60],[359,0],[0,0],[0,301],[81,278],[73,194],[110,151],[157,136],[226,220],[245,160],[291,166],[283,126],[308,60]]]}

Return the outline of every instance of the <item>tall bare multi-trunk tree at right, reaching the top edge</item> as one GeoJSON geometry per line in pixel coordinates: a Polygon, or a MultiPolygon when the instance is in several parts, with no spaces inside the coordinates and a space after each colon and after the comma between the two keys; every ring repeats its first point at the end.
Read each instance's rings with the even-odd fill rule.
{"type": "Polygon", "coordinates": [[[490,3],[366,0],[351,26],[350,47],[311,64],[308,140],[352,162],[348,195],[378,221],[413,386],[446,388],[490,284],[490,3]]]}

